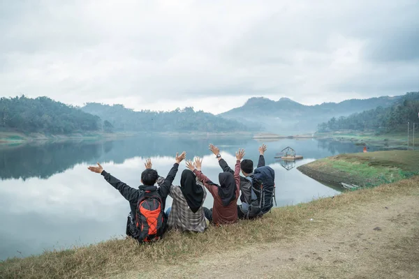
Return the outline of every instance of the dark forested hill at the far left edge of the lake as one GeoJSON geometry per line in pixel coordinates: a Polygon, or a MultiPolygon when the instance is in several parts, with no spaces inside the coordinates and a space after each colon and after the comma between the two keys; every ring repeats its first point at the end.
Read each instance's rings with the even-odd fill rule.
{"type": "Polygon", "coordinates": [[[68,134],[101,129],[98,116],[47,97],[0,98],[0,130],[68,134]]]}

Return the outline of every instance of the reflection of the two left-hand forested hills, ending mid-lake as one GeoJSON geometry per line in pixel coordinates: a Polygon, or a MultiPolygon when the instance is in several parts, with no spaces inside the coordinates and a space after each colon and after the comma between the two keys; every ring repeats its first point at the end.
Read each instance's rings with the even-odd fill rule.
{"type": "MultiPolygon", "coordinates": [[[[189,158],[202,156],[210,151],[210,142],[217,140],[188,139],[179,137],[129,137],[122,140],[101,142],[54,142],[0,147],[0,178],[47,179],[53,174],[64,172],[79,163],[97,161],[123,163],[135,156],[175,156],[177,151],[186,150],[189,158]]],[[[244,144],[247,140],[223,138],[219,144],[244,144]]]]}

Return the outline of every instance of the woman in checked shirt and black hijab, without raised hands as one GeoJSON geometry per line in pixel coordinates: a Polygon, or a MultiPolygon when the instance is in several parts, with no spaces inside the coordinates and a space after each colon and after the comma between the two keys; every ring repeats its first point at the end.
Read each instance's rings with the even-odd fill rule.
{"type": "Polygon", "coordinates": [[[207,228],[203,203],[207,191],[203,185],[196,183],[196,176],[189,169],[182,172],[180,186],[170,186],[172,207],[168,209],[169,229],[179,229],[182,232],[204,232],[207,228]]]}

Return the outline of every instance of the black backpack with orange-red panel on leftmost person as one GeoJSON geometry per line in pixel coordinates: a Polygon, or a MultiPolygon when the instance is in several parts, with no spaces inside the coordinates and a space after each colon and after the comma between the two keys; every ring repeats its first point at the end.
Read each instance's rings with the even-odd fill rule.
{"type": "Polygon", "coordinates": [[[166,216],[156,191],[141,191],[135,211],[136,234],[140,243],[161,239],[166,229],[166,216]]]}

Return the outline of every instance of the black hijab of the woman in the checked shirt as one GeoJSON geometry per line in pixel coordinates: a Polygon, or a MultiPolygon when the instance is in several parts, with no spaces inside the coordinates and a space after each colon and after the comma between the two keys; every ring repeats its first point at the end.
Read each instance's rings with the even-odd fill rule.
{"type": "Polygon", "coordinates": [[[180,190],[184,194],[186,202],[193,213],[196,213],[203,204],[204,190],[196,184],[195,174],[185,169],[180,177],[180,190]]]}

